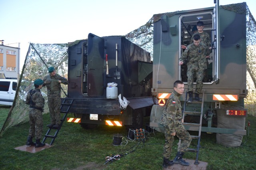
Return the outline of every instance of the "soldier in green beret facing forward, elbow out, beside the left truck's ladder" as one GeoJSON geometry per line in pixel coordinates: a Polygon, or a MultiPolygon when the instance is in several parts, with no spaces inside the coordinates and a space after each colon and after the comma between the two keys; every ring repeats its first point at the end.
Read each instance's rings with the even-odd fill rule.
{"type": "Polygon", "coordinates": [[[66,85],[68,80],[65,77],[61,77],[56,74],[54,67],[49,67],[49,75],[46,75],[43,79],[44,86],[47,87],[47,96],[48,96],[48,107],[50,111],[50,121],[51,123],[47,125],[49,128],[59,128],[60,126],[60,83],[66,85]]]}

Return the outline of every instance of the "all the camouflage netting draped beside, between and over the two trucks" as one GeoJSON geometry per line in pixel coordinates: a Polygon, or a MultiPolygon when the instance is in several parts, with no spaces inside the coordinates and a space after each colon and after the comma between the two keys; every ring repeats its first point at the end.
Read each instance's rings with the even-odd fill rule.
{"type": "MultiPolygon", "coordinates": [[[[254,107],[256,102],[256,22],[246,3],[240,3],[240,7],[237,5],[234,7],[232,5],[222,6],[227,10],[234,10],[238,13],[244,14],[242,7],[246,6],[247,14],[247,89],[248,96],[245,100],[248,107],[250,104],[254,107]]],[[[170,12],[166,14],[156,14],[140,28],[130,32],[125,37],[136,45],[142,47],[146,51],[151,53],[153,57],[153,24],[161,18],[162,15],[174,15],[176,12],[170,12]]],[[[78,41],[74,42],[77,43],[78,41]]],[[[73,44],[74,44],[73,43],[73,44]]],[[[33,81],[35,79],[42,79],[48,74],[48,67],[54,66],[59,75],[67,78],[68,75],[68,54],[67,54],[68,44],[39,44],[30,43],[24,66],[21,72],[21,80],[18,82],[19,87],[17,88],[16,98],[13,106],[11,107],[6,122],[2,127],[0,136],[4,130],[15,125],[19,125],[28,122],[28,105],[25,104],[27,92],[34,88],[33,81]]],[[[62,89],[67,93],[67,86],[62,85],[62,89]]],[[[61,97],[65,97],[65,93],[62,91],[61,97]]],[[[44,114],[48,113],[47,97],[46,97],[46,87],[43,87],[42,94],[44,95],[46,104],[44,106],[44,114]]],[[[250,108],[248,108],[250,111],[250,108]]],[[[250,113],[255,114],[255,113],[250,113]]],[[[44,120],[44,121],[50,121],[44,120]]]]}

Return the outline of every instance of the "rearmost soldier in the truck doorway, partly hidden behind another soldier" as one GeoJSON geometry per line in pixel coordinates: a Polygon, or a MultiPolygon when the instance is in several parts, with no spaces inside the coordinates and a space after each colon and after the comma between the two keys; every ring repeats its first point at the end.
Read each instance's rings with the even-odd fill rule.
{"type": "MultiPolygon", "coordinates": [[[[190,39],[190,44],[193,43],[193,37],[194,35],[196,34],[199,34],[200,38],[201,38],[201,42],[204,43],[207,47],[211,47],[211,40],[210,40],[210,35],[207,33],[207,32],[204,32],[204,22],[202,21],[198,21],[196,23],[196,28],[197,28],[197,31],[194,32],[194,34],[191,36],[191,39],[190,39]]],[[[186,49],[186,46],[185,45],[182,45],[181,46],[183,49],[186,49]]],[[[207,66],[209,65],[208,63],[208,58],[210,58],[209,55],[206,56],[206,64],[207,66]]],[[[208,75],[207,75],[207,69],[204,70],[204,82],[208,81],[207,79],[208,75]]]]}

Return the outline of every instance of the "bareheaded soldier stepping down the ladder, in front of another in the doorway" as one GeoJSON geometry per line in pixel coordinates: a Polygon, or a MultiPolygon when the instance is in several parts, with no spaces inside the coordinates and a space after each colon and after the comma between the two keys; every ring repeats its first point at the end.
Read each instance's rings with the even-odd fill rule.
{"type": "Polygon", "coordinates": [[[196,90],[195,90],[195,100],[202,101],[199,97],[203,87],[204,70],[207,68],[206,57],[211,52],[211,47],[207,47],[204,43],[201,43],[200,36],[198,34],[194,35],[194,43],[188,45],[187,49],[182,53],[180,57],[179,65],[184,62],[187,63],[187,77],[188,77],[188,103],[193,101],[193,79],[194,74],[196,75],[196,90]]]}

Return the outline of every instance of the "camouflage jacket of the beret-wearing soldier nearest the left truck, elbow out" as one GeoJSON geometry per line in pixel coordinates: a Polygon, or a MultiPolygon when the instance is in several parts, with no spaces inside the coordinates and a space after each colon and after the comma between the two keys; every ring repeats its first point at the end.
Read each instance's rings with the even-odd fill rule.
{"type": "Polygon", "coordinates": [[[44,77],[43,81],[45,82],[45,84],[43,85],[43,87],[47,87],[47,95],[60,94],[61,86],[59,80],[64,85],[68,84],[68,80],[65,77],[62,77],[58,74],[54,76],[50,76],[49,74],[44,77]]]}

